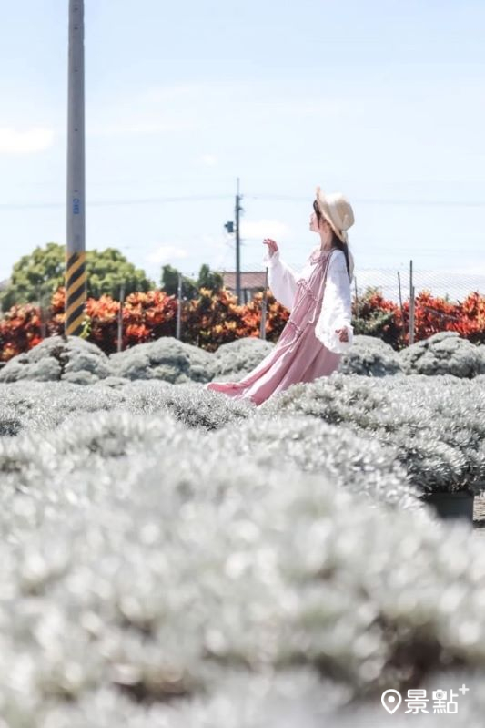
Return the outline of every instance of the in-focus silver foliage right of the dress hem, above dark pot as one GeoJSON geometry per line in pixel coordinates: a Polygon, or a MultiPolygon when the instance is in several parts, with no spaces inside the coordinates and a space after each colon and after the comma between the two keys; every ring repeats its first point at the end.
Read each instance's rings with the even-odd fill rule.
{"type": "Polygon", "coordinates": [[[289,387],[258,415],[313,415],[391,445],[422,491],[480,492],[485,485],[485,390],[474,380],[334,373],[289,387]]]}

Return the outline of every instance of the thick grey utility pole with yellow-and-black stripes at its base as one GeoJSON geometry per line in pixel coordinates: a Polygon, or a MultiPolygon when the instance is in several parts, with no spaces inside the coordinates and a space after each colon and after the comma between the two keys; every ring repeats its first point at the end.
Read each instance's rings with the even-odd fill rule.
{"type": "Polygon", "coordinates": [[[86,306],[84,0],[69,0],[65,336],[79,336],[86,306]]]}

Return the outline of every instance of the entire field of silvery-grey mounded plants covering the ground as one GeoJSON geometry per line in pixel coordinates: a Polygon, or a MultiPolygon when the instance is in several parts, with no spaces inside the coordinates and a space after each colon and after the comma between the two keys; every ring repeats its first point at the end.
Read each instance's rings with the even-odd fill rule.
{"type": "Polygon", "coordinates": [[[483,541],[422,496],[485,487],[485,346],[356,336],[258,407],[203,389],[272,345],[0,370],[2,728],[482,725],[483,541]],[[462,684],[458,715],[380,702],[462,684]]]}

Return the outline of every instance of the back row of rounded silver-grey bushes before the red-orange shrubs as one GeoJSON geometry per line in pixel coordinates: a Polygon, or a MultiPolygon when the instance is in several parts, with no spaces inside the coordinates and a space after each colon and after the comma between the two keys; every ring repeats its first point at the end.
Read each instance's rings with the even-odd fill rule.
{"type": "MultiPolygon", "coordinates": [[[[139,343],[109,357],[96,344],[76,336],[53,336],[26,354],[18,354],[0,369],[0,382],[18,380],[68,381],[78,385],[108,380],[120,386],[125,379],[156,379],[170,384],[220,382],[242,378],[274,347],[257,337],[222,344],[214,354],[173,337],[139,343]]],[[[373,336],[356,336],[342,356],[338,371],[370,377],[393,374],[452,374],[471,378],[485,374],[485,346],[457,333],[437,333],[396,352],[373,336]]]]}

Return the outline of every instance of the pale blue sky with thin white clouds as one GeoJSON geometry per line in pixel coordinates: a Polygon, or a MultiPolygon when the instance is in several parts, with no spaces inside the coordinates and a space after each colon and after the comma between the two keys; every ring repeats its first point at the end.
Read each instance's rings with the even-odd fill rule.
{"type": "MultiPolygon", "coordinates": [[[[66,241],[67,5],[2,8],[0,280],[66,241]]],[[[85,19],[88,250],[157,282],[232,270],[239,177],[243,270],[265,237],[303,265],[319,184],[352,203],[357,276],[485,276],[483,0],[86,0],[85,19]]]]}

